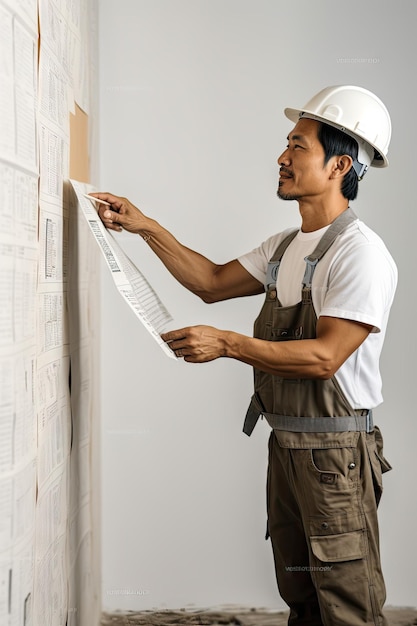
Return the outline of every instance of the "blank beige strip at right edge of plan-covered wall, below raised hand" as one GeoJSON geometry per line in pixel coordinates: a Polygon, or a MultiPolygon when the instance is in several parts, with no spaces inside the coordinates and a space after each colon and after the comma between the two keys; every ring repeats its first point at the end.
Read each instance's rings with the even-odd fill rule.
{"type": "Polygon", "coordinates": [[[98,455],[93,429],[98,420],[98,336],[95,316],[99,300],[97,255],[75,193],[64,185],[68,215],[67,306],[70,343],[71,448],[68,532],[68,626],[96,624],[100,614],[98,455]],[[94,534],[93,534],[94,529],[94,534]]]}

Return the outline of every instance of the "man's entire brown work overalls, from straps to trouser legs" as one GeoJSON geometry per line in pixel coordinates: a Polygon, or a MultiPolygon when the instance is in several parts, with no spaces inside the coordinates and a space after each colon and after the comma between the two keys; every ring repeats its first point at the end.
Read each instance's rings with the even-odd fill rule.
{"type": "MultiPolygon", "coordinates": [[[[282,307],[275,251],[254,336],[267,341],[311,339],[317,317],[311,282],[317,262],[356,219],[342,213],[306,258],[302,300],[282,307]]],[[[268,533],[280,594],[291,626],[386,626],[377,506],[382,472],[391,469],[367,409],[352,409],[335,378],[282,379],[255,370],[255,394],[244,432],[258,417],[273,428],[267,480],[268,533]]]]}

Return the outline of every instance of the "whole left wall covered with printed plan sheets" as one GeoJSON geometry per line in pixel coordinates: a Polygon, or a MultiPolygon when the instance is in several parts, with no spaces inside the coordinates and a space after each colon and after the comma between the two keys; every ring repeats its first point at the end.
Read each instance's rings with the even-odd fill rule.
{"type": "Polygon", "coordinates": [[[89,113],[90,6],[0,0],[1,626],[96,623],[80,374],[92,351],[88,328],[70,338],[63,191],[69,113],[75,102],[89,113]]]}

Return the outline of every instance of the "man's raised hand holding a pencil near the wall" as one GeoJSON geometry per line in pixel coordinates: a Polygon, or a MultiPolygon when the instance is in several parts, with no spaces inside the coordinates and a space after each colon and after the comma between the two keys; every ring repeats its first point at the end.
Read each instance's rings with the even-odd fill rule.
{"type": "Polygon", "coordinates": [[[146,233],[148,218],[127,198],[114,196],[111,193],[90,193],[90,196],[110,202],[111,207],[98,204],[98,214],[109,230],[128,230],[130,233],[146,233]]]}

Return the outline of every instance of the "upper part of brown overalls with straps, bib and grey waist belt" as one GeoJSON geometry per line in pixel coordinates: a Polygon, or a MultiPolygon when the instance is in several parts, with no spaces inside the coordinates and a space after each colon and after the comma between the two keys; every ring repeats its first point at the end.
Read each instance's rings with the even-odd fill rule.
{"type": "MultiPolygon", "coordinates": [[[[283,307],[276,281],[285,250],[297,234],[290,233],[272,256],[266,276],[266,298],[254,325],[254,337],[265,341],[299,341],[316,338],[317,316],[313,307],[311,285],[314,270],[335,239],[356,219],[349,208],[327,229],[313,253],[305,258],[301,300],[283,307]]],[[[339,383],[329,380],[286,379],[254,369],[255,393],[246,414],[244,432],[250,435],[260,415],[270,426],[293,432],[341,432],[372,430],[372,415],[353,409],[339,383]]]]}

